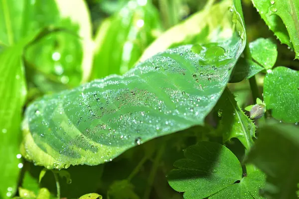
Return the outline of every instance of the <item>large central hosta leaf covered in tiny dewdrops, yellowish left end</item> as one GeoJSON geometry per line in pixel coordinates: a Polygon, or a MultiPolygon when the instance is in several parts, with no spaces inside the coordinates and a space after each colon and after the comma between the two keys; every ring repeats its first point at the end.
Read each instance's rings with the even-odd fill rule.
{"type": "MultiPolygon", "coordinates": [[[[244,38],[238,12],[235,17],[244,38]]],[[[26,110],[22,153],[47,168],[96,165],[155,137],[203,124],[244,46],[237,33],[221,43],[181,46],[124,76],[45,96],[26,110]]]]}

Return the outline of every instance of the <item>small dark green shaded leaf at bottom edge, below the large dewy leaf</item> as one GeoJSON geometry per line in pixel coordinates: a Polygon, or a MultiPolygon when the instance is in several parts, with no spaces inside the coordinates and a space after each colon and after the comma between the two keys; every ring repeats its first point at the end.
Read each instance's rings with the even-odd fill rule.
{"type": "Polygon", "coordinates": [[[115,181],[108,190],[108,199],[140,199],[127,180],[115,181]]]}

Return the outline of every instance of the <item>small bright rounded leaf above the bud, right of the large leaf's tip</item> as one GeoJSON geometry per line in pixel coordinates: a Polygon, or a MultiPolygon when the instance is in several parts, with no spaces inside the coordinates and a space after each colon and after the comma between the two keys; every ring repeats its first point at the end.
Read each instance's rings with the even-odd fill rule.
{"type": "Polygon", "coordinates": [[[277,59],[277,46],[271,39],[259,38],[249,44],[252,58],[265,69],[272,69],[277,59]]]}

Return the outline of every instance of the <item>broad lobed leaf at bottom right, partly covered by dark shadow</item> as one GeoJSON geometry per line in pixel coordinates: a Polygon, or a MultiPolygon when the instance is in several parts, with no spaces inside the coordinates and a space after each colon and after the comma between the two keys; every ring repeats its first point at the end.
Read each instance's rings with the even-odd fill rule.
{"type": "Polygon", "coordinates": [[[225,146],[199,142],[184,151],[186,159],[178,160],[168,175],[169,185],[184,192],[184,199],[257,199],[265,176],[256,170],[242,178],[237,157],[225,146]]]}

